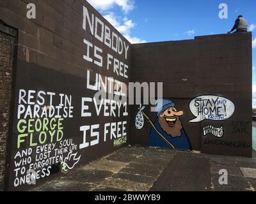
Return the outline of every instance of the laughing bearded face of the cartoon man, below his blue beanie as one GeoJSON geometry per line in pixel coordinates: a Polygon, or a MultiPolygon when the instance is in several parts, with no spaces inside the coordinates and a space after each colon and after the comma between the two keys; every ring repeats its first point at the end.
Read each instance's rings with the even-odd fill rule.
{"type": "Polygon", "coordinates": [[[184,112],[177,111],[174,107],[168,108],[159,115],[159,124],[173,138],[181,136],[182,124],[180,116],[183,114],[184,112]]]}

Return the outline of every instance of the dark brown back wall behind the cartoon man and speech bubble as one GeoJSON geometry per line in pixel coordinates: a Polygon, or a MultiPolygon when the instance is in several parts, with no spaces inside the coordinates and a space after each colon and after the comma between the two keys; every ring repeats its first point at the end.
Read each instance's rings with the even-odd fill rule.
{"type": "MultiPolygon", "coordinates": [[[[184,112],[180,120],[193,150],[211,154],[252,156],[251,33],[133,45],[132,82],[163,82],[163,98],[171,99],[175,108],[184,112]],[[212,98],[209,95],[225,99],[212,98]],[[220,106],[218,110],[221,117],[223,108],[231,108],[234,113],[230,117],[228,112],[231,114],[232,110],[226,110],[224,117],[218,120],[189,122],[195,118],[189,102],[197,96],[210,99],[210,102],[218,99],[218,103],[225,103],[225,107],[216,105],[216,108],[220,106]],[[228,102],[228,99],[232,102],[228,102]],[[232,103],[235,110],[231,107],[232,103]],[[223,135],[219,137],[210,132],[204,136],[203,128],[208,125],[215,128],[223,126],[223,135]]],[[[202,103],[201,101],[200,105],[202,103]]],[[[207,101],[205,105],[206,103],[207,101]]],[[[214,107],[215,105],[208,104],[205,113],[209,108],[214,110],[214,107]]],[[[137,108],[138,106],[132,108],[131,117],[135,118],[137,108]]],[[[150,106],[146,106],[145,113],[152,121],[156,119],[156,113],[150,112],[150,106]]],[[[212,115],[214,114],[205,116],[212,119],[212,115]]],[[[200,117],[203,115],[199,114],[200,117]]],[[[148,122],[138,131],[132,120],[131,129],[134,133],[130,138],[132,144],[148,145],[148,133],[151,129],[148,122]]]]}

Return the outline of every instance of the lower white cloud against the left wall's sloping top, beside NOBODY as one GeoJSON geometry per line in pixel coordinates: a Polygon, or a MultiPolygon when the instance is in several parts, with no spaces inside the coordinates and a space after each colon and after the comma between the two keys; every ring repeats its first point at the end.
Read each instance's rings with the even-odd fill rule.
{"type": "Polygon", "coordinates": [[[129,20],[127,17],[120,18],[115,15],[113,12],[109,12],[104,15],[110,24],[112,24],[116,30],[124,35],[130,43],[146,43],[147,41],[141,40],[140,38],[132,37],[131,36],[131,29],[136,26],[132,20],[129,20]]]}

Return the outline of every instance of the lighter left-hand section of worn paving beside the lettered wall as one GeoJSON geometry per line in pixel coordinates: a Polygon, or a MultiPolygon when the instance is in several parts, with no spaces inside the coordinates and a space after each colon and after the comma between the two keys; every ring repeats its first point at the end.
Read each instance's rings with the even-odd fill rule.
{"type": "Polygon", "coordinates": [[[125,147],[35,191],[149,191],[175,152],[125,147]]]}

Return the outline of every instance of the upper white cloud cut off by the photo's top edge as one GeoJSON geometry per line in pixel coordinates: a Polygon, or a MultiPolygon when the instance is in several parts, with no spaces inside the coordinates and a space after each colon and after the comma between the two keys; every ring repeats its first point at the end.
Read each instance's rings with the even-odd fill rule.
{"type": "Polygon", "coordinates": [[[114,6],[120,6],[125,13],[134,9],[134,0],[87,0],[98,10],[106,11],[114,6]]]}

